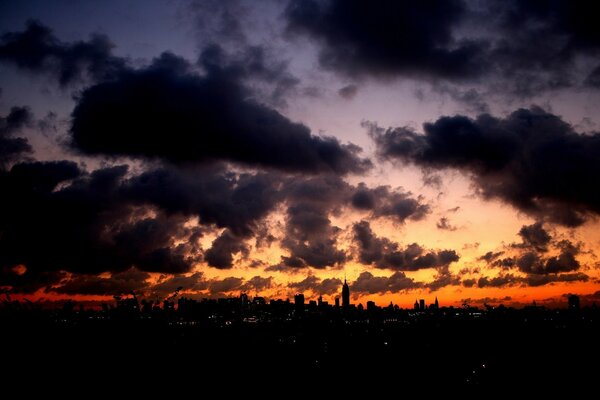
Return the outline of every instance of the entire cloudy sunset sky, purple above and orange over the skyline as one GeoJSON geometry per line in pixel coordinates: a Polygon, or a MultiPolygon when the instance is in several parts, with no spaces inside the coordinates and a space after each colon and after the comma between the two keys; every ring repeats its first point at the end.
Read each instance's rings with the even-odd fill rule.
{"type": "Polygon", "coordinates": [[[0,1],[0,288],[600,299],[585,1],[0,1]]]}

